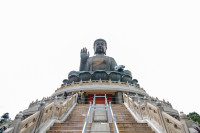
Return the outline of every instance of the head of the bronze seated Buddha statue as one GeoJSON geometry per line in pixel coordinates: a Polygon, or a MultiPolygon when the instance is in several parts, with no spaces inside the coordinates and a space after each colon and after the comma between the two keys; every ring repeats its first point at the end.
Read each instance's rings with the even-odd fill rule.
{"type": "Polygon", "coordinates": [[[104,39],[97,39],[94,41],[94,54],[105,54],[107,50],[107,43],[104,39]]]}

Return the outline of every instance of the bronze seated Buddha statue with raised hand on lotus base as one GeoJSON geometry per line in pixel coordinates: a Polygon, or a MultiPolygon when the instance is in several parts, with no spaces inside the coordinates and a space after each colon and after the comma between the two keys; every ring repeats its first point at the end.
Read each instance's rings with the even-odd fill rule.
{"type": "Polygon", "coordinates": [[[131,72],[124,70],[124,65],[117,66],[114,58],[106,56],[107,43],[104,39],[95,40],[93,48],[95,55],[92,57],[87,48],[81,49],[79,71],[71,71],[67,83],[99,79],[132,82],[131,72]]]}

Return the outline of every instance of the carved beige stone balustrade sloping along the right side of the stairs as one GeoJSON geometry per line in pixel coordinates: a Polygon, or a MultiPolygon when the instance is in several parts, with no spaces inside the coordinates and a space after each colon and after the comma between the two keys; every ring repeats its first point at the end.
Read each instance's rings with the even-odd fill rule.
{"type": "Polygon", "coordinates": [[[140,102],[137,103],[131,97],[124,94],[124,103],[140,120],[150,121],[153,125],[158,126],[157,129],[161,129],[160,132],[163,133],[189,133],[188,127],[184,126],[184,123],[187,122],[179,121],[164,112],[160,106],[161,103],[155,106],[147,102],[147,99],[144,98],[144,100],[145,102],[140,105],[140,102]]]}

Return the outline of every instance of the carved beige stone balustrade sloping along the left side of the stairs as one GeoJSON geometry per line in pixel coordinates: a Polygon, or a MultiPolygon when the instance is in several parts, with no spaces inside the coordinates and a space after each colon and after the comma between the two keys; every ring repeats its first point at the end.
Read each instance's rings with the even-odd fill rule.
{"type": "Polygon", "coordinates": [[[65,114],[71,110],[71,108],[77,103],[77,94],[72,95],[67,100],[57,104],[57,98],[54,102],[45,105],[44,101],[41,101],[40,107],[37,112],[30,115],[23,120],[23,114],[20,112],[16,115],[13,125],[7,129],[7,133],[34,133],[40,132],[43,127],[46,128],[49,121],[55,121],[62,118],[65,114]]]}

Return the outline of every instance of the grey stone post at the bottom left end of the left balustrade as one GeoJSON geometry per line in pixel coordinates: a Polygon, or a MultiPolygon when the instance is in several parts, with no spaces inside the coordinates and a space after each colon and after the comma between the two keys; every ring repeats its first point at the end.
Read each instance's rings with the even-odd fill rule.
{"type": "Polygon", "coordinates": [[[15,116],[15,120],[13,122],[13,127],[14,127],[14,131],[13,133],[18,133],[20,124],[22,122],[22,118],[23,118],[23,114],[22,111],[20,111],[16,116],[15,116]]]}

